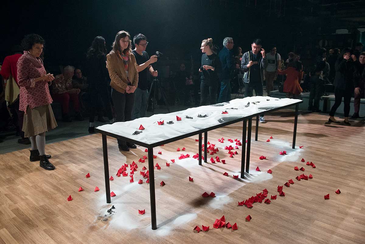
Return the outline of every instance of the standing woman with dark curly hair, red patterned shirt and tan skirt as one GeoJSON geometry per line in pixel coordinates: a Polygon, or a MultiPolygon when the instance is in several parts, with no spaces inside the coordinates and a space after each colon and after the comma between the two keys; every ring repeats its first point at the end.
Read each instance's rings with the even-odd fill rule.
{"type": "Polygon", "coordinates": [[[17,62],[17,77],[20,87],[19,110],[24,111],[24,136],[31,141],[30,161],[38,161],[39,166],[55,169],[46,155],[46,131],[54,129],[57,122],[51,108],[52,98],[49,94],[50,82],[54,77],[46,73],[39,56],[43,50],[44,39],[37,34],[29,34],[22,40],[24,54],[17,62]]]}

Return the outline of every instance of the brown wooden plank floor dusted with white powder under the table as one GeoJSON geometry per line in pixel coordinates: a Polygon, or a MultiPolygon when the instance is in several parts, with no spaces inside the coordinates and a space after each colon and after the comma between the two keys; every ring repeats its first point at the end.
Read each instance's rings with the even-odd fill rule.
{"type": "MultiPolygon", "coordinates": [[[[240,170],[241,146],[238,155],[228,157],[218,138],[242,140],[242,123],[208,133],[208,141],[219,148],[218,156],[227,164],[204,164],[195,159],[178,160],[184,154],[198,152],[195,137],[186,138],[159,148],[155,163],[157,230],[150,228],[149,185],[138,184],[138,163],[134,183],[129,176],[117,177],[124,163],[138,161],[145,148],[128,153],[118,150],[116,140],[108,137],[111,190],[116,193],[112,204],[106,204],[103,151],[100,134],[46,145],[52,155],[54,171],[45,171],[37,162],[29,162],[28,150],[1,155],[0,159],[0,243],[365,243],[365,156],[363,122],[353,126],[327,125],[328,116],[300,114],[297,149],[291,149],[293,112],[284,111],[266,116],[260,124],[258,141],[251,144],[250,173],[260,167],[262,174],[246,180],[233,179],[240,170]],[[272,136],[270,142],[266,140],[272,136]],[[299,146],[303,145],[303,149],[299,146]],[[288,155],[279,152],[286,150],[288,155]],[[267,160],[259,160],[263,155],[267,160]],[[300,160],[312,161],[311,168],[300,160]],[[175,159],[176,163],[171,163],[175,159]],[[170,162],[166,167],[165,162],[170,162]],[[305,172],[295,171],[304,167],[305,172]],[[268,169],[272,175],[266,174],[268,169]],[[90,172],[91,177],[85,178],[90,172]],[[227,172],[228,176],[223,176],[227,172]],[[300,174],[313,179],[297,181],[300,174]],[[189,182],[188,176],[194,181],[189,182]],[[254,203],[252,209],[237,206],[267,188],[268,196],[284,186],[285,197],[277,196],[270,205],[254,203]],[[165,186],[161,187],[160,182],[165,186]],[[84,191],[78,192],[79,187],[84,191]],[[94,192],[95,186],[100,191],[94,192]],[[335,194],[335,190],[341,194],[335,194]],[[203,198],[203,192],[215,192],[216,198],[203,198]],[[329,200],[324,195],[330,194],[329,200]],[[67,201],[72,195],[73,200],[67,201]],[[113,214],[106,210],[115,205],[113,214]],[[146,210],[145,215],[138,210],[146,210]],[[250,214],[252,220],[245,221],[250,214]],[[106,216],[105,216],[106,215],[106,216]],[[214,229],[216,218],[224,215],[238,230],[214,229]],[[196,233],[193,228],[210,226],[208,232],[196,233]]],[[[254,124],[254,122],[253,122],[254,124]]],[[[254,126],[253,126],[254,131],[254,126]]],[[[253,138],[254,140],[254,133],[253,138]]],[[[227,142],[227,141],[226,141],[227,142]]],[[[216,155],[214,155],[215,157],[216,155]]],[[[209,157],[210,159],[210,157],[209,157]]]]}

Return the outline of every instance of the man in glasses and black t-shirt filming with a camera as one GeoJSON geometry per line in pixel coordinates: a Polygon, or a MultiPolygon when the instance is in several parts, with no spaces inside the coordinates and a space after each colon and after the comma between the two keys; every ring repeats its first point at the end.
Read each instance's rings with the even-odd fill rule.
{"type": "Polygon", "coordinates": [[[154,77],[158,75],[157,70],[154,70],[151,66],[157,61],[157,56],[153,55],[151,58],[146,52],[146,47],[148,45],[147,37],[142,34],[137,34],[133,38],[134,50],[132,53],[137,61],[138,70],[138,87],[134,92],[134,113],[133,119],[145,117],[145,108],[148,99],[147,91],[147,71],[154,77]]]}

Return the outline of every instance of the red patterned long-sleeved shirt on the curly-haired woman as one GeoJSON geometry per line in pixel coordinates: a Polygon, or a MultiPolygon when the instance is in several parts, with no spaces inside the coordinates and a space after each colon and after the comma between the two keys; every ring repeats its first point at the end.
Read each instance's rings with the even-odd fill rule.
{"type": "Polygon", "coordinates": [[[35,79],[46,75],[41,58],[32,56],[27,51],[19,58],[17,76],[20,87],[19,110],[27,113],[27,107],[35,108],[53,102],[49,94],[48,83],[35,79]]]}

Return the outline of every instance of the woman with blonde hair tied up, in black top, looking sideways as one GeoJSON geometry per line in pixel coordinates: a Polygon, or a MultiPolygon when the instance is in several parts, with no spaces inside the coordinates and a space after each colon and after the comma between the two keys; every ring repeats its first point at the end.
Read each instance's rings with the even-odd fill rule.
{"type": "Polygon", "coordinates": [[[218,72],[220,70],[219,57],[213,46],[213,39],[204,39],[200,47],[203,55],[201,56],[200,77],[200,106],[207,102],[208,93],[210,95],[210,104],[217,102],[217,88],[219,84],[218,72]]]}

